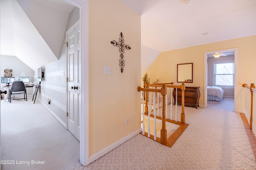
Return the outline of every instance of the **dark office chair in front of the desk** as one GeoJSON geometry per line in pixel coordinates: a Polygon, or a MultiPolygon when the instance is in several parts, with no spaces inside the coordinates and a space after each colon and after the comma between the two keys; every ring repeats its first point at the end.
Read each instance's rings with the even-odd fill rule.
{"type": "Polygon", "coordinates": [[[24,94],[24,100],[27,101],[27,91],[24,82],[22,81],[14,81],[12,82],[12,86],[9,89],[9,102],[11,103],[12,94],[24,94]],[[26,99],[25,99],[26,94],[26,99]]]}

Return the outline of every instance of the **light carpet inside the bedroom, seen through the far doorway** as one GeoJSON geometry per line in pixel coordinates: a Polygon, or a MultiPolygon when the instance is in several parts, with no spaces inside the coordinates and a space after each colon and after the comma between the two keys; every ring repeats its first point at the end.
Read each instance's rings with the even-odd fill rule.
{"type": "Polygon", "coordinates": [[[221,101],[207,100],[207,107],[234,111],[234,98],[223,98],[221,101]]]}

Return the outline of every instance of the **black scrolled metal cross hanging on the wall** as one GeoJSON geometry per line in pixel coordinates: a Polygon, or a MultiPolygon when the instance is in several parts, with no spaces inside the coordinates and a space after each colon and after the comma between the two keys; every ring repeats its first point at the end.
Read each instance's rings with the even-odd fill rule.
{"type": "Polygon", "coordinates": [[[120,38],[119,38],[119,42],[113,40],[111,41],[110,43],[113,44],[114,46],[116,47],[119,47],[119,52],[121,53],[120,54],[120,59],[119,59],[119,66],[121,67],[120,70],[121,70],[121,73],[123,73],[124,71],[124,49],[131,49],[131,47],[129,45],[125,45],[124,44],[124,36],[123,36],[123,33],[121,32],[120,33],[120,38]]]}

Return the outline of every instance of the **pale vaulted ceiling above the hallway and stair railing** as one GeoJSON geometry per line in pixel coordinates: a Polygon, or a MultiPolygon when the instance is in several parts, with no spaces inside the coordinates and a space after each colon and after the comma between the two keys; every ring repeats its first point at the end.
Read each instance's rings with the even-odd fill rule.
{"type": "Polygon", "coordinates": [[[160,52],[256,35],[256,0],[122,2],[141,15],[142,74],[160,52]]]}

